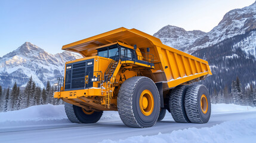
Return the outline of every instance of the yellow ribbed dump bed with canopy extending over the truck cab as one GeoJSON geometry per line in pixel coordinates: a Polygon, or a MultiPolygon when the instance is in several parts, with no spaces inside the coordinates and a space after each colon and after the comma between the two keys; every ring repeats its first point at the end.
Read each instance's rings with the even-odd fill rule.
{"type": "Polygon", "coordinates": [[[212,74],[207,61],[166,46],[158,38],[137,29],[121,27],[64,45],[62,49],[78,52],[84,57],[91,57],[97,54],[97,47],[114,42],[125,43],[129,46],[136,45],[136,50],[141,52],[148,52],[147,48],[149,48],[148,53],[153,55],[154,66],[150,72],[141,71],[141,73],[143,76],[150,77],[155,83],[163,83],[164,91],[180,84],[205,79],[206,76],[212,74]]]}

